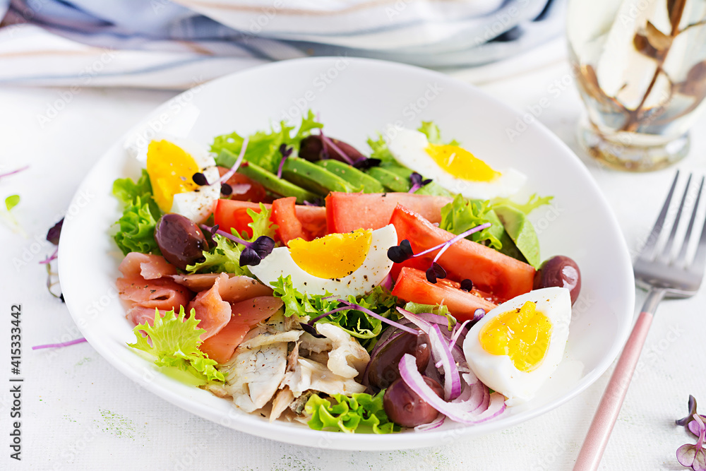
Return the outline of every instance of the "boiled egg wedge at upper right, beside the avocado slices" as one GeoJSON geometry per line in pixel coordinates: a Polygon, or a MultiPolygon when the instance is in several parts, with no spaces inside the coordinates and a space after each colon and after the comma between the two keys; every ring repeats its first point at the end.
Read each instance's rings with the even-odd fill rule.
{"type": "Polygon", "coordinates": [[[424,133],[390,129],[388,149],[397,162],[466,198],[507,198],[527,177],[513,168],[499,172],[459,145],[429,143],[424,133]]]}

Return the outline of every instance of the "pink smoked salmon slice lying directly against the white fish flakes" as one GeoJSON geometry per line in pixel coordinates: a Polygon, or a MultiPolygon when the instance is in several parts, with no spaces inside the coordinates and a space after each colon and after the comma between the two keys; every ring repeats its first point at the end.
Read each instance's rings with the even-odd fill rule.
{"type": "Polygon", "coordinates": [[[269,318],[282,307],[282,299],[261,296],[232,304],[232,317],[229,323],[216,335],[209,337],[198,346],[218,363],[227,362],[235,349],[243,341],[246,333],[258,323],[269,318]]]}

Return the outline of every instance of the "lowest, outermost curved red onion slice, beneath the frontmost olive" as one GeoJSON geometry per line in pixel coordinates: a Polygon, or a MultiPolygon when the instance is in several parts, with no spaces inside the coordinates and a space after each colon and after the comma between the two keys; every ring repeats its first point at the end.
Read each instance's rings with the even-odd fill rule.
{"type": "MultiPolygon", "coordinates": [[[[461,424],[479,424],[497,417],[505,410],[505,398],[498,393],[493,393],[494,397],[489,401],[489,407],[479,414],[469,411],[469,409],[471,409],[469,406],[473,404],[469,404],[468,402],[446,402],[438,397],[433,389],[426,384],[424,378],[417,370],[417,359],[408,353],[400,359],[400,374],[402,375],[402,380],[407,383],[407,386],[417,393],[419,397],[424,399],[427,404],[455,422],[461,424]]],[[[476,410],[475,407],[473,409],[476,410]]]]}

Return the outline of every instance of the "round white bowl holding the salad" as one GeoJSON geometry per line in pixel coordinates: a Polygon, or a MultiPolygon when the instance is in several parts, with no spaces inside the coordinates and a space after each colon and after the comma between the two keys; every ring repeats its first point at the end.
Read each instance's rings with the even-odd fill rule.
{"type": "Polygon", "coordinates": [[[347,450],[421,448],[544,414],[587,388],[615,359],[633,318],[634,280],[616,219],[587,169],[541,124],[530,124],[510,140],[506,130],[515,129],[517,119],[517,112],[441,73],[368,59],[285,61],[200,85],[150,113],[81,183],[59,246],[66,304],[95,350],[128,378],[205,419],[269,439],[347,450]],[[319,114],[329,136],[361,150],[367,149],[366,138],[387,124],[417,127],[433,120],[445,138],[457,139],[477,157],[525,173],[526,194],[554,195],[554,204],[535,210],[531,219],[544,258],[562,254],[578,263],[582,293],[573,308],[566,358],[537,398],[472,427],[446,424],[425,433],[384,436],[321,432],[301,424],[270,424],[241,412],[227,400],[165,375],[127,347],[134,340],[132,326],[115,288],[121,254],[109,235],[119,217],[112,183],[139,174],[126,147],[155,133],[208,145],[222,133],[251,133],[280,119],[299,119],[301,110],[309,108],[319,114]]]}

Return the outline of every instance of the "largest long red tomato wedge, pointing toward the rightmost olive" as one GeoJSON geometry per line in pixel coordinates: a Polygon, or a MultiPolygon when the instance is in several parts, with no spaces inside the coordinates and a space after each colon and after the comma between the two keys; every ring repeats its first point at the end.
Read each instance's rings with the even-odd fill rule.
{"type": "MultiPolygon", "coordinates": [[[[415,254],[455,237],[402,205],[397,205],[390,222],[397,229],[397,241],[407,239],[415,254]]],[[[431,266],[436,253],[433,251],[431,254],[410,258],[404,263],[395,263],[393,278],[402,266],[426,270],[431,266]]],[[[480,290],[498,299],[510,299],[530,292],[534,282],[532,266],[468,239],[461,239],[451,245],[438,263],[446,270],[448,279],[461,281],[469,278],[480,290]]]]}

